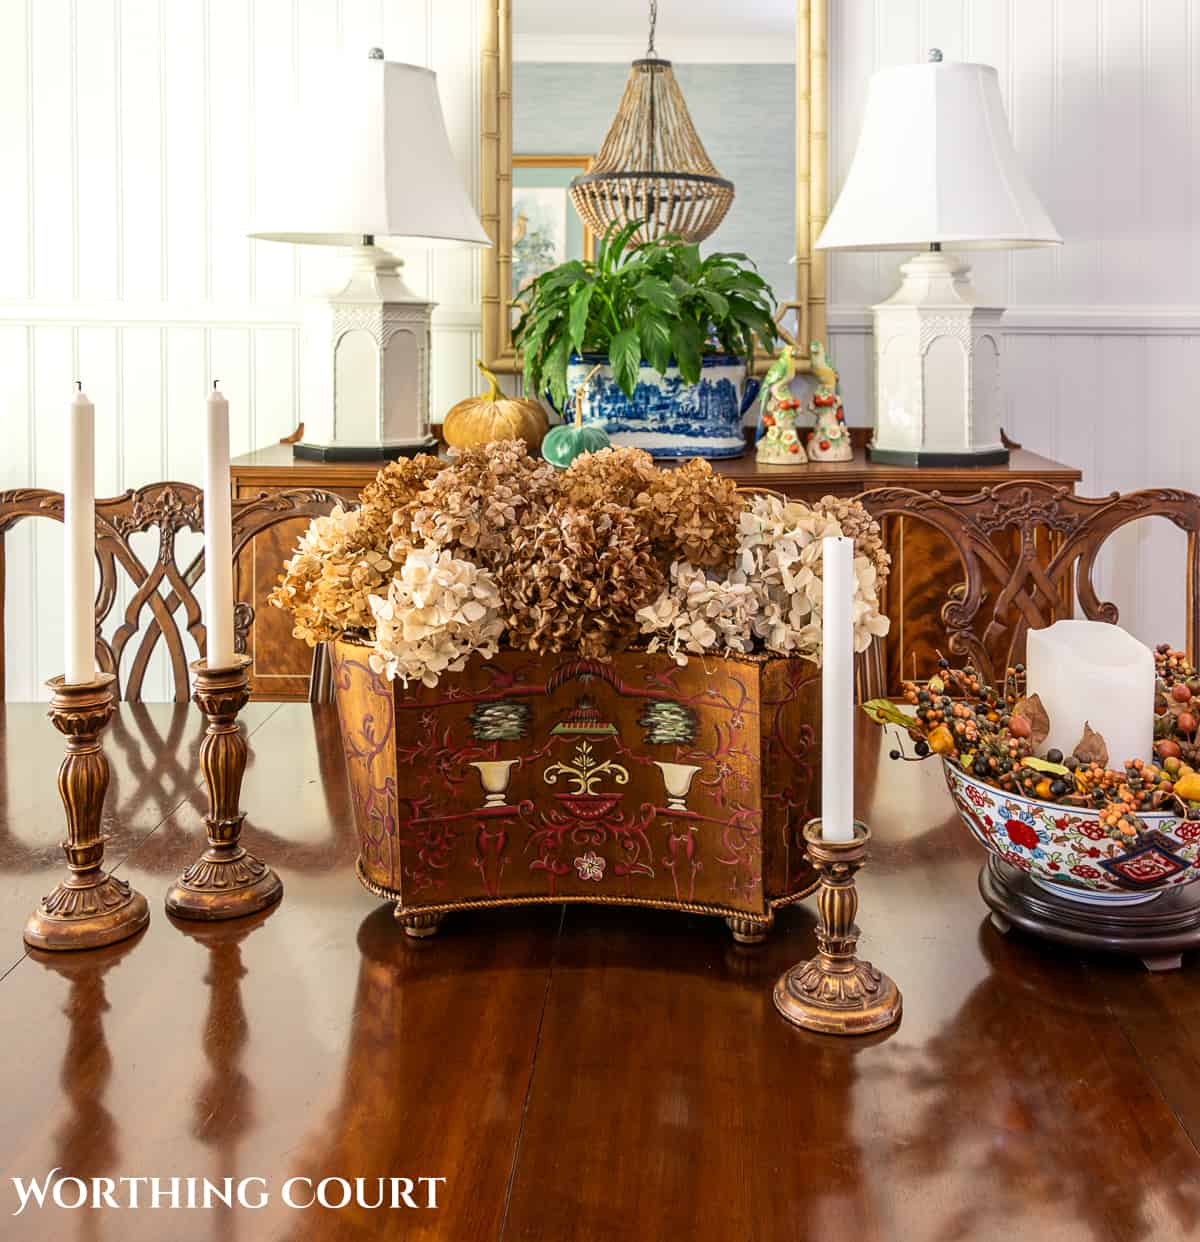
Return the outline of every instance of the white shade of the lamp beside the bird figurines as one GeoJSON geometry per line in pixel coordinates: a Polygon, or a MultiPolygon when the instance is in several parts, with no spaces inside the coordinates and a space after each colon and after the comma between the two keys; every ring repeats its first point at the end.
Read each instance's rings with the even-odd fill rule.
{"type": "Polygon", "coordinates": [[[817,250],[1061,243],[1012,145],[990,65],[937,62],[871,78],[850,175],[817,250]]]}

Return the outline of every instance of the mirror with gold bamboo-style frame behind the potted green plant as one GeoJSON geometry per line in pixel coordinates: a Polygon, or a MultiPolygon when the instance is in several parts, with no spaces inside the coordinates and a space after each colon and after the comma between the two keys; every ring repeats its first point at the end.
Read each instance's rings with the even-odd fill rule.
{"type": "MultiPolygon", "coordinates": [[[[734,197],[704,252],[740,251],[779,306],[798,368],[825,335],[826,0],[484,0],[483,267],[488,366],[518,371],[513,299],[540,272],[590,258],[594,233],[570,200],[621,106],[631,62],[672,62],[696,134],[734,197]],[[795,256],[795,262],[791,262],[795,256]]],[[[761,359],[765,363],[765,356],[761,359]]]]}

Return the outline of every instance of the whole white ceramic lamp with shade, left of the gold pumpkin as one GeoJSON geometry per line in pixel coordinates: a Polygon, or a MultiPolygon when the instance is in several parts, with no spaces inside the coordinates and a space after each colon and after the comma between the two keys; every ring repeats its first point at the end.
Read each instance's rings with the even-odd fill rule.
{"type": "Polygon", "coordinates": [[[306,309],[304,438],[297,457],[357,461],[430,448],[435,303],[376,238],[488,246],[455,163],[437,78],[374,47],[306,79],[251,237],[353,247],[345,283],[306,309]]]}

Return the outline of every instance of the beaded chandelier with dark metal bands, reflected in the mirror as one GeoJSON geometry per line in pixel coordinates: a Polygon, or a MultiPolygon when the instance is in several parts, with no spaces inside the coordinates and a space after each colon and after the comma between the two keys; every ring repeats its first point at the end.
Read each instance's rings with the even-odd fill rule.
{"type": "Polygon", "coordinates": [[[703,241],[724,220],[733,181],[708,158],[671,62],[655,51],[657,16],[651,0],[650,46],[634,61],[591,171],[571,181],[571,202],[596,236],[610,225],[643,220],[639,241],[662,233],[703,241]]]}

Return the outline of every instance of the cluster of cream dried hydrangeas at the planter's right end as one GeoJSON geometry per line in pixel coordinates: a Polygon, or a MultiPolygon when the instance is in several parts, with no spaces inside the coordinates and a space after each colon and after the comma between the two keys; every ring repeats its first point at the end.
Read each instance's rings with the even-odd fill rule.
{"type": "MultiPolygon", "coordinates": [[[[688,653],[765,647],[820,663],[821,540],[845,533],[827,512],[774,496],[752,497],[739,520],[733,570],[720,575],[672,565],[668,589],[639,612],[642,633],[651,636],[648,650],[667,651],[682,663],[688,653]]],[[[876,564],[856,545],[856,651],[888,631],[878,585],[876,564]]]]}

